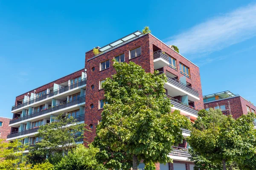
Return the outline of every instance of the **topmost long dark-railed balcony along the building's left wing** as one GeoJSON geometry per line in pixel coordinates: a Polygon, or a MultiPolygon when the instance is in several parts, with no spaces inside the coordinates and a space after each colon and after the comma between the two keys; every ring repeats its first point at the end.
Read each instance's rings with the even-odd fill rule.
{"type": "Polygon", "coordinates": [[[67,86],[65,86],[65,87],[58,88],[58,89],[56,89],[55,91],[52,91],[52,92],[47,93],[47,94],[44,94],[43,96],[38,96],[38,97],[35,97],[35,98],[33,98],[33,99],[30,99],[30,100],[28,100],[28,101],[26,101],[26,102],[17,104],[17,105],[15,105],[15,106],[12,106],[12,111],[14,111],[14,110],[16,110],[16,109],[18,109],[18,108],[22,108],[22,107],[24,107],[24,106],[26,106],[26,105],[30,105],[30,104],[35,103],[35,102],[39,102],[39,101],[41,101],[41,100],[43,100],[43,99],[47,99],[47,98],[49,98],[49,97],[55,96],[55,95],[57,95],[57,94],[64,93],[65,91],[69,91],[69,90],[71,90],[71,89],[73,89],[73,88],[77,88],[77,87],[79,87],[79,86],[81,86],[81,85],[85,85],[86,82],[87,82],[87,79],[85,78],[85,79],[79,80],[78,82],[76,82],[76,83],[74,83],[74,84],[72,84],[72,85],[67,85],[67,86]]]}

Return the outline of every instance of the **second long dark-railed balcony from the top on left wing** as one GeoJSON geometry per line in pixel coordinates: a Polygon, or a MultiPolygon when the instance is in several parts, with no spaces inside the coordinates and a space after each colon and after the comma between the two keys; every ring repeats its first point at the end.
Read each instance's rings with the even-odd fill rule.
{"type": "Polygon", "coordinates": [[[31,113],[29,115],[26,115],[26,116],[11,119],[9,125],[11,125],[13,123],[23,121],[23,120],[26,120],[26,119],[34,118],[36,116],[41,116],[41,115],[44,115],[46,113],[50,113],[50,112],[53,112],[53,111],[58,111],[60,109],[67,108],[67,107],[70,107],[70,106],[73,106],[73,105],[77,105],[77,104],[80,104],[80,103],[83,103],[83,102],[85,102],[85,96],[81,96],[78,99],[70,100],[70,101],[55,105],[55,106],[51,106],[49,108],[45,108],[41,111],[33,112],[33,113],[31,113]]]}

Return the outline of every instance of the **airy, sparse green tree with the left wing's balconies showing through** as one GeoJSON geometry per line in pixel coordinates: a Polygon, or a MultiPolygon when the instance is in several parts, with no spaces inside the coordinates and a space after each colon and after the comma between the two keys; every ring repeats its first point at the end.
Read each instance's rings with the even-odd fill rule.
{"type": "Polygon", "coordinates": [[[29,160],[35,164],[48,157],[50,163],[56,164],[62,159],[63,152],[67,153],[76,146],[76,141],[84,138],[85,126],[77,124],[73,116],[63,118],[62,114],[55,117],[55,122],[40,126],[36,136],[41,142],[29,148],[29,160]]]}

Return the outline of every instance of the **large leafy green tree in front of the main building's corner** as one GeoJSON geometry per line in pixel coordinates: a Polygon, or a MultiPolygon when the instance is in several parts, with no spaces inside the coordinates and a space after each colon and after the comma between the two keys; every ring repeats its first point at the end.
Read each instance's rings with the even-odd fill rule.
{"type": "Polygon", "coordinates": [[[190,122],[179,111],[171,113],[166,76],[158,71],[146,73],[134,62],[113,62],[116,74],[103,83],[108,104],[93,143],[100,148],[97,158],[115,169],[128,169],[132,162],[137,170],[140,160],[169,162],[172,145],[183,139],[180,128],[189,127],[190,122]]]}

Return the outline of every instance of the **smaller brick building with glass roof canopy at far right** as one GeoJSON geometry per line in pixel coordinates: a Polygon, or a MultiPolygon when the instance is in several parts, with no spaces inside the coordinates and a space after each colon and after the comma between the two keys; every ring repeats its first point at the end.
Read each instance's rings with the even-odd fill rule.
{"type": "Polygon", "coordinates": [[[223,114],[231,114],[235,119],[248,112],[256,113],[256,106],[253,103],[230,91],[204,96],[204,108],[221,109],[223,114]]]}

